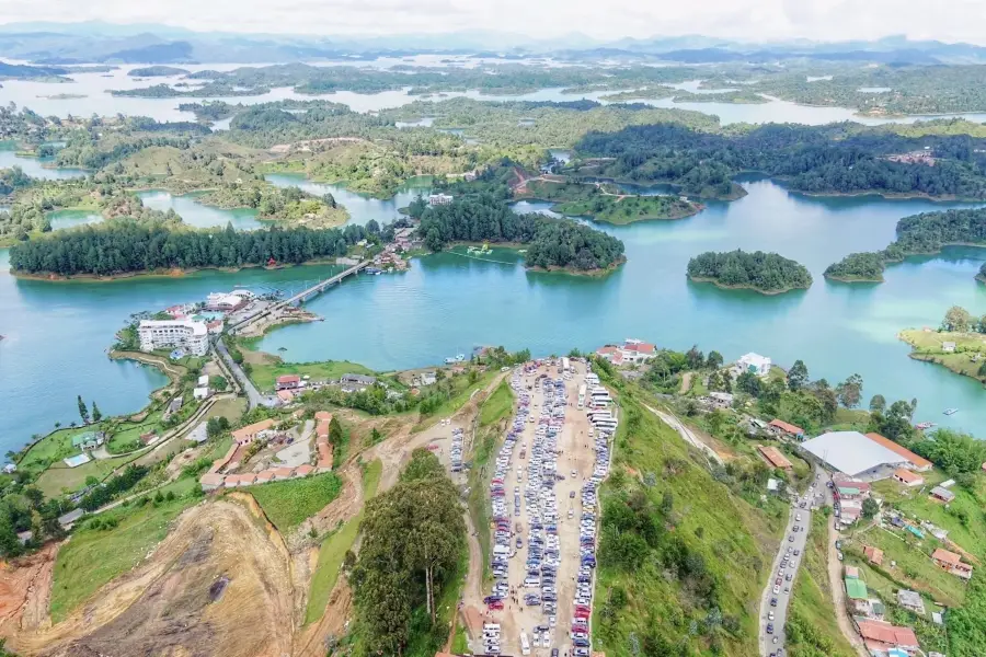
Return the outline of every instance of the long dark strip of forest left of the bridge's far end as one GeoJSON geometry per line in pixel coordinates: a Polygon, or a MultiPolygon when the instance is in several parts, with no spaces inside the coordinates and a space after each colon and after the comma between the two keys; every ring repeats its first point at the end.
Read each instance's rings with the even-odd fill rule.
{"type": "Polygon", "coordinates": [[[113,276],[133,272],[301,264],[345,255],[366,238],[362,226],[237,232],[190,230],[167,222],[111,219],[96,226],[61,230],[15,244],[14,273],[58,276],[113,276]]]}

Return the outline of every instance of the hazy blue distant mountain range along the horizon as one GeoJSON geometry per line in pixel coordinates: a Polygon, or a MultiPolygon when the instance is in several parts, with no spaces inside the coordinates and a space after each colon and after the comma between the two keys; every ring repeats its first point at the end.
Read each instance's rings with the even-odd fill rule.
{"type": "Polygon", "coordinates": [[[415,54],[484,54],[564,59],[660,59],[685,64],[816,59],[879,64],[982,64],[986,47],[909,41],[741,43],[701,35],[601,42],[584,34],[536,39],[485,31],[442,35],[307,36],[193,32],[165,25],[11,23],[0,25],[0,57],[38,65],[73,64],[276,64],[318,59],[366,59],[415,54]],[[440,44],[436,48],[436,43],[440,44]]]}

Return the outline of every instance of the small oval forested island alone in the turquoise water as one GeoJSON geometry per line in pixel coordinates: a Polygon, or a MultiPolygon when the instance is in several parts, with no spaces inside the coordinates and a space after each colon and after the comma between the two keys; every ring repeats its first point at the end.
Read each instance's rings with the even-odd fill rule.
{"type": "Polygon", "coordinates": [[[804,265],[763,251],[699,254],[688,261],[688,277],[721,287],[750,288],[767,293],[806,289],[812,285],[812,275],[804,265]]]}

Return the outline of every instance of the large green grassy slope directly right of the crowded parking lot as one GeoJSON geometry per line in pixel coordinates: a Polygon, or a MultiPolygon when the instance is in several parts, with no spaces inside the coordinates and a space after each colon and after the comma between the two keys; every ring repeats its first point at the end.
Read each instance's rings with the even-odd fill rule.
{"type": "MultiPolygon", "coordinates": [[[[601,493],[594,649],[630,657],[634,655],[631,635],[635,635],[640,643],[651,641],[681,655],[756,655],[757,600],[777,549],[776,537],[761,511],[716,482],[704,460],[693,458],[677,433],[644,408],[644,403],[656,404],[650,395],[634,384],[619,385],[621,420],[615,463],[601,493]],[[629,508],[627,500],[641,494],[653,507],[670,506],[670,510],[651,520],[663,527],[658,546],[652,549],[645,542],[647,553],[641,565],[627,567],[617,554],[606,552],[609,540],[614,550],[627,544],[626,532],[607,539],[615,531],[607,526],[618,522],[624,512],[621,506],[629,508]],[[667,527],[666,519],[673,527],[667,527]],[[663,565],[666,555],[683,552],[693,567],[685,575],[673,574],[663,565]],[[698,581],[714,589],[721,625],[709,623],[709,607],[696,592],[698,581]],[[621,604],[607,610],[614,599],[621,604]]],[[[653,654],[670,653],[655,649],[653,654]]]]}

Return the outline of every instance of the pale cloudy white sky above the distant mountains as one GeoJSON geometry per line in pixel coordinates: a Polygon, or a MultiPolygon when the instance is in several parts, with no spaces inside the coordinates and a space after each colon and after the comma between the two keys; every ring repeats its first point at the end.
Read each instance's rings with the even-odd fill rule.
{"type": "Polygon", "coordinates": [[[915,39],[986,45],[986,0],[0,0],[0,23],[108,21],[208,32],[558,37],[702,34],[741,41],[915,39]]]}

